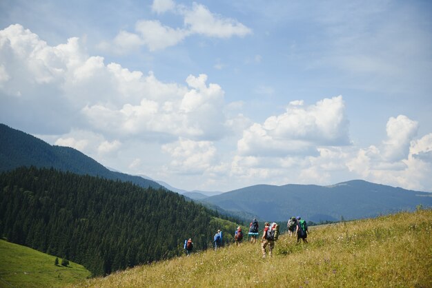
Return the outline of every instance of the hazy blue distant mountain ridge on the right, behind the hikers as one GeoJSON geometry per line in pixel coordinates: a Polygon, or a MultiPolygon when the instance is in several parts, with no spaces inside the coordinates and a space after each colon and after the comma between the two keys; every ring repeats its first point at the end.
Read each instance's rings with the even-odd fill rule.
{"type": "Polygon", "coordinates": [[[432,194],[353,180],[330,186],[254,185],[202,201],[228,212],[256,214],[262,220],[302,216],[320,222],[413,211],[417,205],[432,207],[432,194]]]}

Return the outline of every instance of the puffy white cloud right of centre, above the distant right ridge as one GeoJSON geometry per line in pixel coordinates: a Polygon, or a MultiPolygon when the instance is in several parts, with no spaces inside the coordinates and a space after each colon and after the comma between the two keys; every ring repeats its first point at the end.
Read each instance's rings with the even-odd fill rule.
{"type": "Polygon", "coordinates": [[[291,102],[284,114],[254,123],[237,143],[242,155],[317,154],[316,146],[349,145],[342,96],[304,107],[291,102]]]}

